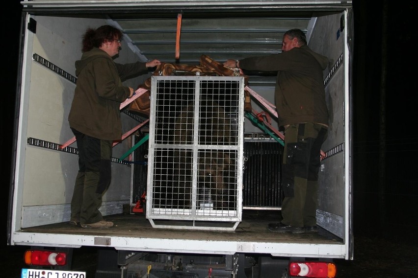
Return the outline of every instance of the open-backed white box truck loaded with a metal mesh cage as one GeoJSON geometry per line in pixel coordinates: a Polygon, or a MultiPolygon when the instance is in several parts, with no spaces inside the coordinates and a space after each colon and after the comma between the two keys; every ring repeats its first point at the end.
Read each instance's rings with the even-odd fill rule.
{"type": "Polygon", "coordinates": [[[353,259],[351,1],[21,3],[8,244],[64,252],[68,261],[29,265],[22,277],[84,277],[71,268],[72,249],[82,246],[98,248],[96,277],[285,278],[294,269],[291,262],[298,262],[302,277],[327,277],[322,262],[326,269],[334,258],[353,259]],[[151,69],[125,81],[138,88],[151,80],[151,109],[148,116],[131,104],[121,106],[125,136],[114,143],[112,182],[101,207],[115,226],[68,225],[78,172],[77,141],[67,120],[77,82],[74,63],[86,28],[103,24],[124,33],[118,63],[159,59],[199,65],[202,55],[223,63],[278,53],[284,32],[306,32],[308,46],[330,59],[323,73],[330,127],[319,172],[319,232],[266,229],[279,221],[282,202],[283,135],[274,116],[274,72],[244,72],[246,79],[181,70],[159,76],[151,69]],[[245,92],[251,94],[251,111],[243,109],[245,92]],[[180,114],[191,113],[195,120],[186,125],[201,122],[202,101],[197,100],[202,99],[209,118],[216,113],[227,122],[228,143],[202,143],[198,124],[190,126],[198,130],[192,139],[198,143],[176,133],[180,114]],[[195,155],[183,161],[190,165],[189,179],[179,181],[176,167],[183,162],[168,158],[190,153],[195,155]],[[223,177],[231,189],[226,199],[213,194],[210,177],[200,176],[219,153],[231,162],[223,177]],[[188,184],[188,202],[184,191],[176,200],[181,194],[174,192],[175,183],[188,184]]]}

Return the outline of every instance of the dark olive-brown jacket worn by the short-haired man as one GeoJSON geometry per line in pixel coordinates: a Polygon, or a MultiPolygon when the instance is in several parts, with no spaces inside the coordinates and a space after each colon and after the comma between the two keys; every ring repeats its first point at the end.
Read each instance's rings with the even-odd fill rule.
{"type": "Polygon", "coordinates": [[[275,102],[281,126],[303,122],[328,125],[322,72],[327,66],[328,58],[308,46],[239,60],[244,70],[278,71],[275,102]]]}

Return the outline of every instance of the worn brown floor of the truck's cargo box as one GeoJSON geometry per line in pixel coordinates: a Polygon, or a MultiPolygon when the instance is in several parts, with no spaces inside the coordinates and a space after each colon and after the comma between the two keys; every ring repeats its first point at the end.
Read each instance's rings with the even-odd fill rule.
{"type": "MultiPolygon", "coordinates": [[[[231,231],[199,231],[183,229],[153,228],[145,214],[114,214],[104,216],[114,226],[108,229],[85,229],[73,226],[68,222],[24,228],[21,232],[80,234],[118,237],[170,238],[209,241],[241,241],[241,242],[286,242],[310,244],[341,244],[341,239],[318,228],[317,233],[275,233],[267,230],[267,224],[280,221],[280,211],[276,210],[243,210],[242,221],[234,232],[231,231]]],[[[167,220],[169,221],[169,220],[167,220]]]]}

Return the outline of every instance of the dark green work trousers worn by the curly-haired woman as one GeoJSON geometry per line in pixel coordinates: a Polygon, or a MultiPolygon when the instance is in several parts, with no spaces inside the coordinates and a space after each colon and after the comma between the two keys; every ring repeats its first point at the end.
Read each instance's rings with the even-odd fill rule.
{"type": "Polygon", "coordinates": [[[112,141],[72,129],[77,140],[78,174],[71,199],[71,220],[92,224],[103,220],[102,195],[110,185],[112,141]]]}

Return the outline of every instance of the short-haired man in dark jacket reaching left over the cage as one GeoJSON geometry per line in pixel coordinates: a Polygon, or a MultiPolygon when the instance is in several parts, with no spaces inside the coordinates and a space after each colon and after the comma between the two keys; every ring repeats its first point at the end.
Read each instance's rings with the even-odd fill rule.
{"type": "Polygon", "coordinates": [[[328,58],[313,52],[300,29],[283,36],[282,53],[228,60],[225,67],[278,71],[275,102],[279,125],[285,128],[282,167],[282,221],[272,232],[316,232],[320,149],[327,137],[328,108],[323,70],[328,58]]]}

